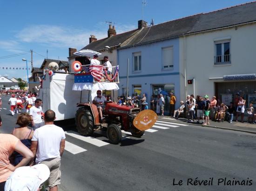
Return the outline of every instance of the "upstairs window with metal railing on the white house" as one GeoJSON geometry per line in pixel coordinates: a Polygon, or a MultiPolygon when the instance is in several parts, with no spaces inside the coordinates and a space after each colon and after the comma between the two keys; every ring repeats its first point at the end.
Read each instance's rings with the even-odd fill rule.
{"type": "Polygon", "coordinates": [[[215,42],[214,64],[230,64],[230,41],[215,42]]]}

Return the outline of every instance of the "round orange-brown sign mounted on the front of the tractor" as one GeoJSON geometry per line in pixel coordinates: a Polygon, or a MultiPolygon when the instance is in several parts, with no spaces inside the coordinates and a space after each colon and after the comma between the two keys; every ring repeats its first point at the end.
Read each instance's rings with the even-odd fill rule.
{"type": "Polygon", "coordinates": [[[145,109],[141,111],[134,119],[133,125],[141,131],[145,131],[151,128],[155,121],[157,120],[157,115],[154,111],[150,109],[145,109]]]}

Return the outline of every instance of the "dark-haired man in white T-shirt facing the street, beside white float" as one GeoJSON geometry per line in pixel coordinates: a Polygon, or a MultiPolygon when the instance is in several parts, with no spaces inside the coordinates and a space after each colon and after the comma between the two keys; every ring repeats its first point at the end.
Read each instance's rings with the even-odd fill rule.
{"type": "Polygon", "coordinates": [[[41,118],[41,115],[43,115],[43,109],[41,107],[41,104],[42,104],[42,100],[36,99],[35,105],[29,109],[29,115],[32,118],[33,130],[35,130],[39,127],[42,127],[44,125],[44,122],[41,118]]]}

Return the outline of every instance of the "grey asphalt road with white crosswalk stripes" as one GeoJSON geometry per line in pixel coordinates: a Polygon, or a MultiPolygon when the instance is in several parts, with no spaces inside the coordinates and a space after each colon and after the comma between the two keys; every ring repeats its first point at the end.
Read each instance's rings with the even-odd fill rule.
{"type": "MultiPolygon", "coordinates": [[[[16,116],[10,115],[7,100],[3,97],[0,109],[1,133],[10,133],[15,127],[16,116]]],[[[158,121],[157,126],[162,128],[153,127],[140,139],[123,133],[119,145],[108,144],[101,134],[84,137],[74,127],[64,127],[67,145],[61,159],[60,188],[64,191],[256,190],[254,134],[166,121],[158,121]],[[179,181],[180,185],[175,185],[179,181]]]]}

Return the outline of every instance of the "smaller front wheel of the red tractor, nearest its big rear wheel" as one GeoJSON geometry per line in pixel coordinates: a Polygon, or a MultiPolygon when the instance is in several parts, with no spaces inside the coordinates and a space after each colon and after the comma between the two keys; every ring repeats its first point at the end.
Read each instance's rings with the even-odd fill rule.
{"type": "Polygon", "coordinates": [[[122,139],[121,128],[116,124],[110,124],[107,129],[108,140],[112,144],[118,144],[122,139]]]}

